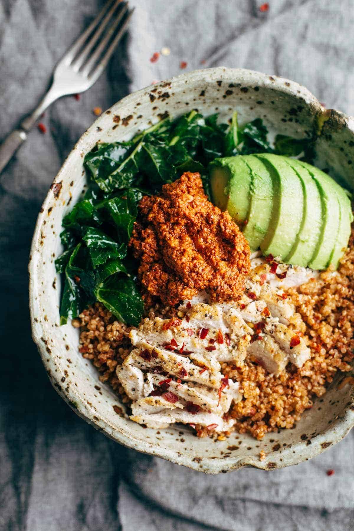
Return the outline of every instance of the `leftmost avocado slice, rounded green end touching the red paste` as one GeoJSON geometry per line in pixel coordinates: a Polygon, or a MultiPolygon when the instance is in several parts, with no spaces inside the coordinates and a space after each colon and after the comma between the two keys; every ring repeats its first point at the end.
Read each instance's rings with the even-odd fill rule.
{"type": "Polygon", "coordinates": [[[243,157],[215,159],[210,165],[210,184],[213,202],[221,210],[228,210],[234,221],[247,219],[251,170],[243,157]]]}

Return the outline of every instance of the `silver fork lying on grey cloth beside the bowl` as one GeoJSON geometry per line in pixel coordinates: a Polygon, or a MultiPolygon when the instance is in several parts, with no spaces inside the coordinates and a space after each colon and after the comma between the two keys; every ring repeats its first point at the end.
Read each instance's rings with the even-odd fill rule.
{"type": "Polygon", "coordinates": [[[92,87],[127,29],[134,8],[122,0],[108,0],[96,19],[68,49],[57,64],[53,82],[38,107],[10,133],[0,146],[0,172],[27,139],[38,118],[58,98],[92,87]]]}

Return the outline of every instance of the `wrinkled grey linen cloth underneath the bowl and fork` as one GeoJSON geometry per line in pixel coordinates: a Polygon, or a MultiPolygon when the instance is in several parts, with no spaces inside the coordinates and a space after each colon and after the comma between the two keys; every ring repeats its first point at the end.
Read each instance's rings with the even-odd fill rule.
{"type": "MultiPolygon", "coordinates": [[[[129,35],[80,101],[57,101],[0,176],[0,529],[11,531],[353,529],[354,432],[321,456],[265,473],[206,476],[120,447],[57,396],[30,337],[27,261],[42,200],[73,144],[153,80],[247,67],[304,84],[354,115],[354,2],[131,0],[129,35]],[[169,57],[151,55],[168,46],[169,57]],[[335,474],[326,475],[333,468],[335,474]]],[[[100,0],[0,0],[0,138],[28,113],[100,0]]]]}

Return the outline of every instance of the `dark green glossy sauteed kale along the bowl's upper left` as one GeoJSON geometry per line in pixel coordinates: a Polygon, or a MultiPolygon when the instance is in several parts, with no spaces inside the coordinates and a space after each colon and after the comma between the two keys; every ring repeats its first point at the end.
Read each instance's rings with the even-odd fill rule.
{"type": "Polygon", "coordinates": [[[201,174],[210,196],[208,165],[217,157],[305,152],[310,161],[311,139],[278,135],[272,148],[260,118],[242,127],[237,113],[230,125],[219,124],[217,118],[192,110],[173,121],[163,119],[132,140],[99,142],[85,156],[89,189],[63,219],[64,252],[55,262],[64,278],[61,324],[96,301],[118,320],[139,324],[144,304],[127,244],[143,195],[158,193],[163,184],[192,171],[201,174]]]}

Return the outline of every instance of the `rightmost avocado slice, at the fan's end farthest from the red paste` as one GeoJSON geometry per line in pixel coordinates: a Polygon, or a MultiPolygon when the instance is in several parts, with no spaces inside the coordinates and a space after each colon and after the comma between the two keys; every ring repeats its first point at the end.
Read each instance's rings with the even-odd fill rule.
{"type": "Polygon", "coordinates": [[[299,161],[299,164],[308,170],[309,175],[320,186],[320,190],[324,191],[321,199],[326,207],[324,214],[326,223],[323,227],[322,243],[309,266],[313,269],[325,269],[329,265],[334,265],[337,268],[338,262],[348,245],[351,232],[350,225],[353,215],[349,196],[346,190],[320,169],[303,161],[299,161]],[[336,201],[334,201],[334,197],[336,201]],[[331,245],[332,249],[330,250],[331,245]],[[326,255],[325,252],[328,253],[328,251],[330,251],[329,255],[326,255]]]}

